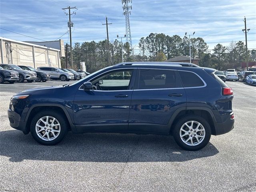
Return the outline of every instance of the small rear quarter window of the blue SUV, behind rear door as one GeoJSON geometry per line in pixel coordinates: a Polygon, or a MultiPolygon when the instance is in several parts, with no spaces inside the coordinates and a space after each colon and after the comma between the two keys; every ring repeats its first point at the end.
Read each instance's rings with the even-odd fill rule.
{"type": "Polygon", "coordinates": [[[202,87],[204,82],[193,72],[179,71],[180,78],[184,87],[202,87]]]}

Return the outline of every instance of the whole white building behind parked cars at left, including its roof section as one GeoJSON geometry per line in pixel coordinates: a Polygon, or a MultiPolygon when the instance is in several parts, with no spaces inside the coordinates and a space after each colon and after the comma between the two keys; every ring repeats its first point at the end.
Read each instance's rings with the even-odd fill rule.
{"type": "Polygon", "coordinates": [[[0,62],[4,64],[25,65],[34,68],[40,66],[61,67],[60,57],[64,56],[63,40],[31,43],[0,37],[0,62]],[[51,48],[51,45],[56,48],[51,48]]]}

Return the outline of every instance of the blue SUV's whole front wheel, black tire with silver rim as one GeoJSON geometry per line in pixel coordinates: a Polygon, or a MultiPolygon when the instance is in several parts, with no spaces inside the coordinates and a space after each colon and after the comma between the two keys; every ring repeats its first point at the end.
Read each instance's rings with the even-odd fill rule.
{"type": "Polygon", "coordinates": [[[34,116],[30,124],[30,132],[34,140],[36,140],[38,143],[42,145],[55,145],[59,143],[66,136],[68,132],[67,125],[68,125],[68,122],[62,114],[56,111],[45,110],[45,111],[39,112],[34,116]],[[48,124],[46,124],[47,116],[49,117],[48,124]],[[50,127],[50,125],[52,124],[51,120],[53,120],[53,118],[56,119],[54,120],[54,124],[55,125],[59,124],[59,126],[50,127]],[[43,123],[42,120],[44,120],[45,123],[43,123]],[[36,126],[36,124],[40,125],[41,127],[36,126]],[[36,133],[38,130],[39,132],[36,133]],[[56,130],[56,131],[52,131],[52,130],[56,130]],[[56,136],[56,138],[54,138],[54,135],[56,136]],[[40,136],[44,136],[44,137],[40,138],[40,136]]]}

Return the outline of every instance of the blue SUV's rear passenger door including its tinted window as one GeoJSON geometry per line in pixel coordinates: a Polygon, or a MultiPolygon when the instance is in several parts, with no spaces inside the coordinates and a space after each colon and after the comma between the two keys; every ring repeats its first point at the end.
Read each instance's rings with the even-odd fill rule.
{"type": "Polygon", "coordinates": [[[177,70],[138,69],[136,84],[128,130],[168,132],[174,112],[186,108],[186,92],[177,70]]]}

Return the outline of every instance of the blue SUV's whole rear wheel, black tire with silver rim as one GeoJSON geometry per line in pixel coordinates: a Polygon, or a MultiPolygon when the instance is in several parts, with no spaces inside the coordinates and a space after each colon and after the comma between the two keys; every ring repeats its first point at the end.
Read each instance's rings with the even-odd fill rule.
{"type": "Polygon", "coordinates": [[[176,122],[172,130],[172,134],[178,146],[180,146],[184,150],[196,151],[204,148],[210,141],[211,128],[208,122],[204,118],[196,115],[188,115],[180,118],[178,122],[176,122]],[[191,128],[185,125],[185,123],[187,123],[188,126],[191,126],[192,121],[193,121],[192,132],[194,134],[191,134],[192,133],[191,128]],[[202,130],[202,131],[196,131],[196,126],[198,126],[198,124],[200,124],[198,130],[202,130]],[[182,131],[181,129],[185,130],[186,132],[182,131]],[[196,139],[196,136],[194,136],[195,134],[198,135],[197,139],[196,139]],[[184,136],[181,137],[181,135],[184,135],[184,136]],[[192,141],[190,138],[192,138],[192,141]],[[192,142],[193,142],[193,145],[192,145],[192,142]]]}

